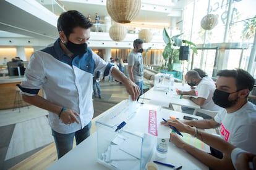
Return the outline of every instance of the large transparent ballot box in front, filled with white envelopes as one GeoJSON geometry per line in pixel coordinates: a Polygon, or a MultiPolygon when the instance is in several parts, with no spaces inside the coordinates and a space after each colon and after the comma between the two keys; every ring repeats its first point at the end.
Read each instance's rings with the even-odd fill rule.
{"type": "Polygon", "coordinates": [[[97,161],[109,169],[145,169],[155,146],[155,137],[130,129],[137,127],[135,114],[124,100],[95,121],[97,161]]]}

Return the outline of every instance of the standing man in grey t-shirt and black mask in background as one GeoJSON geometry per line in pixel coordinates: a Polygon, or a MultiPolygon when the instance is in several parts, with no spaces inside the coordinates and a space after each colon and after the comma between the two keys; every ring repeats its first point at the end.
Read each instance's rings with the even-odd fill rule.
{"type": "Polygon", "coordinates": [[[140,87],[140,95],[143,92],[143,40],[134,40],[134,49],[128,54],[129,78],[140,87]]]}

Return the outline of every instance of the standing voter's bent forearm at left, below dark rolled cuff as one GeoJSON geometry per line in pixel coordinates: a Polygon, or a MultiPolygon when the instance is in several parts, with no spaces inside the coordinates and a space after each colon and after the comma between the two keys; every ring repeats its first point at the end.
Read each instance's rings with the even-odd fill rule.
{"type": "Polygon", "coordinates": [[[45,98],[41,97],[40,95],[28,96],[28,95],[22,94],[22,99],[27,103],[30,103],[32,105],[35,105],[36,107],[40,107],[45,110],[51,111],[52,113],[56,113],[57,115],[59,115],[59,112],[62,109],[62,106],[51,103],[45,98]]]}

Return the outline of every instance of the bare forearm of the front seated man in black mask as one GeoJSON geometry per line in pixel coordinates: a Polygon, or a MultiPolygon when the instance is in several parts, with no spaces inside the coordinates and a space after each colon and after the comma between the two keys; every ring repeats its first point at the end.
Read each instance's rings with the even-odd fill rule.
{"type": "Polygon", "coordinates": [[[191,121],[183,121],[183,123],[188,124],[189,126],[195,126],[200,129],[211,129],[218,127],[217,124],[212,123],[212,120],[191,120],[191,121]]]}

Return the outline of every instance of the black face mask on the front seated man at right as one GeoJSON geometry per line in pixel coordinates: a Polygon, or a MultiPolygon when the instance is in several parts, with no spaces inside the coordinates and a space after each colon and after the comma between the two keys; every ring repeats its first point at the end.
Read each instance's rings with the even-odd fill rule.
{"type": "MultiPolygon", "coordinates": [[[[238,90],[241,91],[241,90],[238,90]]],[[[236,92],[238,92],[236,91],[236,92]]],[[[215,89],[215,92],[213,93],[213,102],[223,108],[229,108],[232,107],[233,105],[236,104],[236,100],[229,100],[228,97],[230,94],[233,94],[235,92],[224,92],[224,91],[219,91],[218,89],[215,89]]]]}

